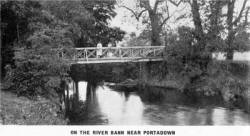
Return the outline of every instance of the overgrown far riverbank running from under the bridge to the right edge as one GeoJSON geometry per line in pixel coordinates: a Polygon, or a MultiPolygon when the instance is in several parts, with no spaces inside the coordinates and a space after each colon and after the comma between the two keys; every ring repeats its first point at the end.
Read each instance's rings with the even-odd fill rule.
{"type": "Polygon", "coordinates": [[[249,61],[212,60],[206,72],[198,66],[176,62],[75,65],[76,81],[111,82],[117,90],[128,92],[141,87],[175,89],[190,96],[222,96],[225,101],[249,99],[249,61]],[[81,73],[81,74],[79,74],[81,73]],[[246,98],[245,98],[246,97],[246,98]]]}

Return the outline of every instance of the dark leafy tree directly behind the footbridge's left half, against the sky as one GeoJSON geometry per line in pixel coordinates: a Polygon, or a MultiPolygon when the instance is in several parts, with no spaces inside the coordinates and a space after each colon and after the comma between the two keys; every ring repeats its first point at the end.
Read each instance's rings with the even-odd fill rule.
{"type": "Polygon", "coordinates": [[[82,35],[77,46],[96,46],[101,42],[107,46],[109,42],[121,41],[125,32],[117,27],[110,27],[109,21],[116,16],[115,0],[82,0],[82,6],[89,12],[90,18],[87,22],[79,22],[82,35]]]}

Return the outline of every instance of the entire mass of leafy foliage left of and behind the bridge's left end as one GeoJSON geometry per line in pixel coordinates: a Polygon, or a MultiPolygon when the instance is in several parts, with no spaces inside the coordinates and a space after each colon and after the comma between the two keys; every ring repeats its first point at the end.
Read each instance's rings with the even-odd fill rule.
{"type": "Polygon", "coordinates": [[[114,4],[97,0],[1,2],[1,57],[8,69],[5,79],[9,87],[30,98],[57,95],[70,70],[70,62],[58,52],[70,59],[74,47],[123,38],[124,31],[109,26],[108,21],[116,15],[114,4]],[[11,62],[15,67],[7,65],[11,62]]]}

